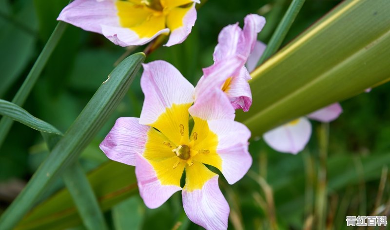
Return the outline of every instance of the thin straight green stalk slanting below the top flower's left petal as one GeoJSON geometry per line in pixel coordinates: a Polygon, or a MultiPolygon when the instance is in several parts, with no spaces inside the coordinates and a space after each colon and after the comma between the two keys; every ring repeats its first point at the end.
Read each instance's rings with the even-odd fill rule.
{"type": "MultiPolygon", "coordinates": [[[[27,99],[27,96],[30,94],[32,88],[37,82],[40,73],[45,67],[47,61],[49,60],[50,55],[53,53],[53,50],[56,48],[59,39],[66,29],[67,24],[65,22],[60,21],[56,28],[54,29],[52,35],[47,41],[45,47],[42,52],[39,54],[37,61],[35,62],[33,68],[28,73],[26,79],[24,80],[22,86],[19,88],[16,93],[12,103],[22,106],[27,99]]],[[[13,120],[7,117],[2,117],[0,120],[0,146],[4,142],[5,137],[7,136],[12,124],[13,120]]]]}

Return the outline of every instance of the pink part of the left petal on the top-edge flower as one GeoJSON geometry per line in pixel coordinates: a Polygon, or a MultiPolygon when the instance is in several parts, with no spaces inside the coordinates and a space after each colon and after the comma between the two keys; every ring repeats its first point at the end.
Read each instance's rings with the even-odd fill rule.
{"type": "Polygon", "coordinates": [[[99,34],[101,25],[119,26],[114,0],[75,0],[62,9],[57,20],[99,34]]]}

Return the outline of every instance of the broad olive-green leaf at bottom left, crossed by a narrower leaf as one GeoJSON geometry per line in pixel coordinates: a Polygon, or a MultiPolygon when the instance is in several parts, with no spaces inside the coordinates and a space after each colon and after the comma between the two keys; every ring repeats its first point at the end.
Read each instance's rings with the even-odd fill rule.
{"type": "MultiPolygon", "coordinates": [[[[110,161],[88,174],[88,180],[103,211],[137,193],[134,167],[110,161]]],[[[62,189],[32,210],[17,230],[62,230],[81,224],[72,197],[62,189]]]]}

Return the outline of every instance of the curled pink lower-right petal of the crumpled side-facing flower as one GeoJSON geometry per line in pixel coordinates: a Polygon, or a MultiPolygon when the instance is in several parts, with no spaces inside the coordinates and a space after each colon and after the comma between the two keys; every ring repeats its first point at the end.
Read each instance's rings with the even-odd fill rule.
{"type": "Polygon", "coordinates": [[[252,79],[245,67],[242,67],[238,75],[232,77],[225,93],[234,109],[242,108],[245,112],[252,105],[252,92],[248,81],[252,79]]]}

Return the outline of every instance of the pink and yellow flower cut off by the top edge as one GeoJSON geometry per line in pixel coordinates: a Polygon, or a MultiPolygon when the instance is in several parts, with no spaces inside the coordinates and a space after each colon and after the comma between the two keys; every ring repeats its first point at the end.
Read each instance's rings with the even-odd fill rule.
{"type": "Polygon", "coordinates": [[[171,33],[166,46],[183,42],[196,20],[198,0],[75,0],[59,14],[62,20],[99,33],[117,45],[143,45],[171,33]]]}

